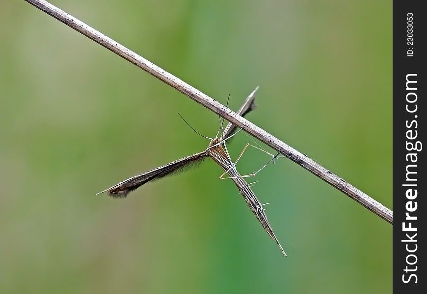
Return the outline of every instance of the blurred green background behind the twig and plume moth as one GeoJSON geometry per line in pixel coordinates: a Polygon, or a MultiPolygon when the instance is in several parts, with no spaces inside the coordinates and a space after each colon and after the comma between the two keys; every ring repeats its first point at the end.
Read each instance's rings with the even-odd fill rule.
{"type": "MultiPolygon", "coordinates": [[[[390,1],[53,4],[233,109],[260,85],[251,122],[393,208],[390,1]]],[[[287,258],[211,160],[95,196],[217,116],[25,1],[0,21],[1,293],[392,291],[392,226],[288,159],[253,188],[287,258]]]]}

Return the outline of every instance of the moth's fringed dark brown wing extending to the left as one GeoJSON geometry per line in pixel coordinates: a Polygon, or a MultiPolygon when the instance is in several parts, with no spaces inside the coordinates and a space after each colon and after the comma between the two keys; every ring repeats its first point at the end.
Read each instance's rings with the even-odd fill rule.
{"type": "Polygon", "coordinates": [[[135,175],[123,182],[120,182],[107,190],[101,191],[99,194],[108,192],[109,196],[116,198],[124,198],[128,196],[130,192],[144,185],[146,182],[160,179],[164,176],[171,175],[177,172],[181,172],[186,168],[189,168],[197,163],[200,163],[204,158],[208,157],[206,151],[199,152],[171,163],[165,164],[161,167],[155,168],[151,171],[144,172],[143,174],[135,175]]]}

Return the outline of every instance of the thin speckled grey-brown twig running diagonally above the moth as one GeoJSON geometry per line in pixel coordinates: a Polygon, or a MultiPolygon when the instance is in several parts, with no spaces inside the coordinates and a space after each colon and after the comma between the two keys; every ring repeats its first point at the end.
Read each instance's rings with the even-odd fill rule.
{"type": "Polygon", "coordinates": [[[196,102],[202,104],[206,108],[210,109],[214,113],[226,119],[227,121],[234,123],[239,127],[242,127],[243,130],[247,133],[264,142],[269,147],[282,153],[283,155],[285,155],[301,167],[305,168],[306,170],[314,173],[325,182],[329,183],[333,187],[337,188],[338,190],[349,196],[351,199],[362,204],[364,207],[372,211],[377,216],[393,224],[393,212],[390,209],[388,209],[381,203],[375,201],[373,198],[366,195],[356,187],[350,185],[336,174],[323,168],[312,159],[295,150],[293,147],[288,146],[273,135],[267,133],[265,130],[247,121],[243,117],[237,115],[235,112],[231,111],[213,98],[210,98],[206,94],[203,94],[202,92],[188,85],[186,82],[182,81],[173,74],[166,72],[157,65],[148,61],[147,59],[139,56],[132,50],[120,45],[119,43],[108,38],[106,35],[100,33],[94,28],[86,25],[85,23],[74,18],[68,13],[53,6],[49,2],[44,0],[26,1],[39,8],[40,10],[46,12],[55,19],[59,20],[60,22],[70,26],[71,28],[85,35],[89,39],[101,44],[105,48],[123,57],[124,59],[133,63],[137,67],[154,75],[161,81],[165,82],[169,86],[172,86],[173,88],[177,89],[178,91],[195,100],[196,102]]]}

